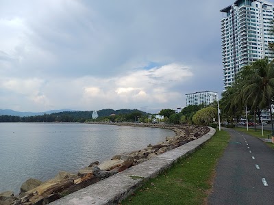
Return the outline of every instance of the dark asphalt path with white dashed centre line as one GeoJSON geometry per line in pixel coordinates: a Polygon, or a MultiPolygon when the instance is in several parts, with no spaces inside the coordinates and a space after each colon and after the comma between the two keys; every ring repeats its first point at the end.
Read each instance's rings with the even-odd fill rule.
{"type": "Polygon", "coordinates": [[[208,204],[274,204],[274,150],[258,138],[227,129],[229,146],[216,167],[208,204]]]}

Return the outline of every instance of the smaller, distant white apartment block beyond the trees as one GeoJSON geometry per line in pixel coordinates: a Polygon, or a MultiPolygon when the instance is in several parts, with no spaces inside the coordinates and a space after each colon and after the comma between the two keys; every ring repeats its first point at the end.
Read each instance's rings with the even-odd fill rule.
{"type": "Polygon", "coordinates": [[[218,94],[216,92],[204,91],[186,94],[186,106],[209,105],[216,100],[218,100],[218,94]]]}

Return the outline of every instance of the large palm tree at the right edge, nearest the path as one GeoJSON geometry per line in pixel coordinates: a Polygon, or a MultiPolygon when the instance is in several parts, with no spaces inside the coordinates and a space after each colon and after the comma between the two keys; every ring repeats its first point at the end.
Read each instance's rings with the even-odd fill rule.
{"type": "Polygon", "coordinates": [[[251,103],[253,109],[269,107],[274,136],[271,102],[274,96],[274,64],[267,57],[259,59],[240,72],[242,80],[242,99],[251,103]]]}

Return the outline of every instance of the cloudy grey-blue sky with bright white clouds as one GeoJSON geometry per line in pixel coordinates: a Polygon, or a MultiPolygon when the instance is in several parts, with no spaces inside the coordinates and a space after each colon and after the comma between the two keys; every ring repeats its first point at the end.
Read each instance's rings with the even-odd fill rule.
{"type": "Polygon", "coordinates": [[[0,109],[157,113],[221,96],[220,10],[233,2],[1,0],[0,109]]]}

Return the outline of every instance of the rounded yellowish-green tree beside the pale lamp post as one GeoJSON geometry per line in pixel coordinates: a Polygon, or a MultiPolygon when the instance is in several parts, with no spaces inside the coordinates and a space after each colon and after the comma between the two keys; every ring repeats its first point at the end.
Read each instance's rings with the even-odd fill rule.
{"type": "Polygon", "coordinates": [[[218,112],[214,107],[205,107],[192,117],[192,121],[197,125],[210,125],[213,118],[217,118],[218,112]]]}

